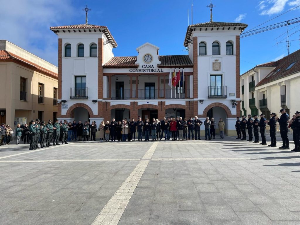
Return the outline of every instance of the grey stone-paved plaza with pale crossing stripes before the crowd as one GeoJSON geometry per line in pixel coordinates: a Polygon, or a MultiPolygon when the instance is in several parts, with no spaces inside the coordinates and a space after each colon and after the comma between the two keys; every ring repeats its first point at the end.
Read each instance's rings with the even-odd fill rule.
{"type": "Polygon", "coordinates": [[[1,225],[300,224],[290,150],[234,137],[28,149],[0,148],[1,225]]]}

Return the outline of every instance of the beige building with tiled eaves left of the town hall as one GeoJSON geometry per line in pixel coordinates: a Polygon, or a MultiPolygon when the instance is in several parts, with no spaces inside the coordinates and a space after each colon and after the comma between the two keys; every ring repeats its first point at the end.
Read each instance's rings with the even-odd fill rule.
{"type": "Polygon", "coordinates": [[[11,125],[57,117],[57,67],[0,40],[0,121],[11,125]]]}

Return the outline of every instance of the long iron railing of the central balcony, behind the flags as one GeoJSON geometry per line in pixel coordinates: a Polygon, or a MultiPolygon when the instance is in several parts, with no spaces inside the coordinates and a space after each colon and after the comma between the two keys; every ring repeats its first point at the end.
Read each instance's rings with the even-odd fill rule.
{"type": "Polygon", "coordinates": [[[132,97],[130,89],[107,90],[107,98],[112,100],[128,100],[128,99],[186,99],[190,98],[190,90],[177,89],[138,89],[132,90],[132,97]],[[183,93],[182,93],[183,92],[183,93]]]}

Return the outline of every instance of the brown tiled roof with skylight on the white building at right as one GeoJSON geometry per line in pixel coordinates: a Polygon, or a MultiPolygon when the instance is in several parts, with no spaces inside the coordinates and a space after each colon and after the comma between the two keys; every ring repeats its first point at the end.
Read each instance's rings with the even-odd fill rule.
{"type": "Polygon", "coordinates": [[[300,50],[295,51],[292,54],[283,57],[282,59],[279,59],[276,61],[276,64],[277,66],[274,68],[274,70],[272,70],[264,79],[258,82],[256,87],[300,72],[300,50]],[[294,62],[295,64],[286,70],[286,68],[288,68],[294,62]]]}

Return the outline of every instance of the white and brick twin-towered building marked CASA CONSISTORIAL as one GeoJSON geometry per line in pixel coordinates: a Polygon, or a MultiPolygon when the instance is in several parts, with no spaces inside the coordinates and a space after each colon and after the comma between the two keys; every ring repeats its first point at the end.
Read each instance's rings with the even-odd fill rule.
{"type": "Polygon", "coordinates": [[[193,24],[182,34],[188,55],[160,55],[160,48],[147,42],[136,48],[136,55],[123,57],[114,57],[118,45],[106,26],[51,27],[58,35],[58,118],[99,125],[112,118],[209,116],[222,118],[226,133],[235,134],[239,35],[246,27],[193,24]],[[172,85],[174,75],[178,82],[172,85]]]}

